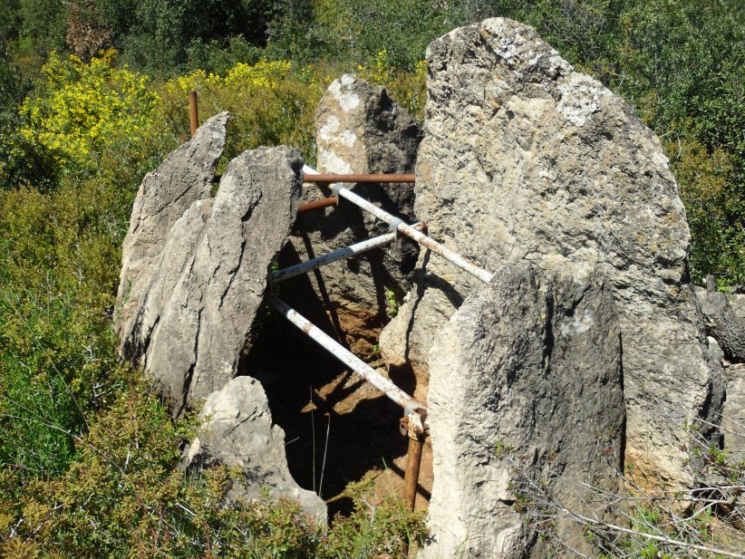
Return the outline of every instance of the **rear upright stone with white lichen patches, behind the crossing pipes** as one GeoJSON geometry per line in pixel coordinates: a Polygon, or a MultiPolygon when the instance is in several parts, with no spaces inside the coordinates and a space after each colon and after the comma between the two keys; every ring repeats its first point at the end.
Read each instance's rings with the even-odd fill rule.
{"type": "MultiPolygon", "coordinates": [[[[343,75],[320,101],[315,125],[318,172],[413,172],[421,126],[381,86],[343,75]]],[[[358,185],[355,192],[396,216],[406,220],[414,217],[413,185],[358,185]]],[[[331,194],[328,187],[306,185],[303,201],[331,194]]],[[[294,264],[387,232],[382,222],[342,200],[337,207],[300,214],[292,246],[286,248],[281,262],[294,264]]],[[[374,331],[386,317],[385,292],[402,297],[408,290],[417,255],[416,244],[400,239],[391,246],[291,280],[292,288],[283,295],[290,292],[286,295],[289,304],[303,309],[315,323],[326,323],[353,351],[370,352],[377,342],[374,331]],[[309,308],[311,299],[318,302],[314,308],[309,308]]]]}

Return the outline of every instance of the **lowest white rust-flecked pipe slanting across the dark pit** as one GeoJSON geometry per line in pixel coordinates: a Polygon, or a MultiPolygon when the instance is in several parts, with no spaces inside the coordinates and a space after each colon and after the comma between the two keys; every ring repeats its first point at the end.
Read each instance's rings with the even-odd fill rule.
{"type": "MultiPolygon", "coordinates": [[[[323,330],[318,328],[314,323],[311,323],[302,314],[295,311],[284,301],[279,299],[275,294],[266,294],[266,302],[272,305],[275,310],[282,314],[288,321],[295,324],[301,332],[308,334],[314,342],[319,343],[324,349],[330,352],[336,359],[342,361],[345,365],[351,368],[354,372],[359,374],[365,381],[368,381],[376,389],[381,390],[389,399],[396,402],[404,410],[415,408],[418,410],[426,410],[426,406],[421,404],[417,400],[414,400],[401,390],[398,386],[393,384],[390,379],[386,379],[381,373],[372,369],[370,365],[361,360],[359,357],[354,355],[352,352],[344,349],[343,346],[335,342],[334,339],[323,330]]],[[[428,420],[424,417],[424,427],[428,427],[428,420]]]]}

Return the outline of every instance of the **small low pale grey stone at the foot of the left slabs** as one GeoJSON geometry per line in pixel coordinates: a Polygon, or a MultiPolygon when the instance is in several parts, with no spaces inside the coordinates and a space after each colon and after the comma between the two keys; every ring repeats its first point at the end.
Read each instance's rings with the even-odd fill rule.
{"type": "Polygon", "coordinates": [[[305,512],[325,522],[323,499],[299,487],[287,469],[285,431],[272,425],[259,381],[237,377],[227,382],[209,395],[199,419],[201,426],[187,450],[186,467],[240,467],[246,483],[230,489],[231,500],[250,501],[268,492],[273,499],[299,501],[305,512]]]}

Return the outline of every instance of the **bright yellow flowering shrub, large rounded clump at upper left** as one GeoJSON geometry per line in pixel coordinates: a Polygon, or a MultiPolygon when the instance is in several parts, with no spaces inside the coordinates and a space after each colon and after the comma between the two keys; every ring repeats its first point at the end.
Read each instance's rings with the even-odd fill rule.
{"type": "Polygon", "coordinates": [[[24,140],[48,149],[68,171],[96,169],[114,143],[140,144],[157,99],[148,78],[112,65],[108,51],[84,63],[52,53],[44,64],[43,93],[20,107],[24,140]]]}

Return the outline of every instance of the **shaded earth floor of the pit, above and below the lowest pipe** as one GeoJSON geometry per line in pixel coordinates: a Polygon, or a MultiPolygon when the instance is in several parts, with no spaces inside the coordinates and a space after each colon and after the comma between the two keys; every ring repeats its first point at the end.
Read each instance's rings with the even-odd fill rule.
{"type": "MultiPolygon", "coordinates": [[[[360,309],[322,309],[314,297],[303,303],[296,300],[289,281],[282,285],[280,295],[296,310],[388,375],[374,351],[382,328],[379,317],[365,316],[360,309]]],[[[330,516],[350,512],[352,502],[343,495],[344,488],[368,472],[378,494],[400,493],[408,447],[398,427],[401,408],[283,317],[267,312],[258,322],[244,371],[262,382],[272,417],[285,429],[287,461],[295,481],[319,493],[328,502],[330,516]]],[[[391,378],[410,394],[416,388],[411,371],[392,371],[391,378]]],[[[431,483],[428,439],[422,452],[418,509],[428,506],[431,483]]]]}

